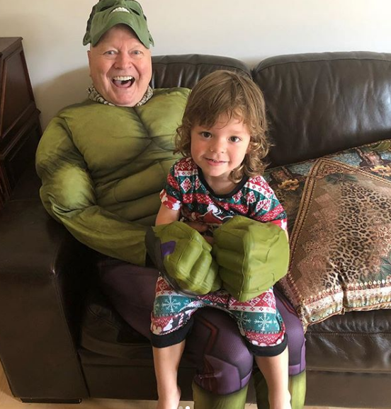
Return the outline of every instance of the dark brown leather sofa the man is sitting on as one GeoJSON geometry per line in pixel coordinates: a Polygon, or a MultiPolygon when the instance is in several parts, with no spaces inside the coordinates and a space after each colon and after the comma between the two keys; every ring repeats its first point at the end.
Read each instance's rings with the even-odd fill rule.
{"type": "MultiPolygon", "coordinates": [[[[391,54],[285,55],[252,70],[226,57],[154,57],[152,86],[191,88],[215,69],[245,71],[263,90],[271,166],[391,137],[391,54]]],[[[0,358],[12,393],[26,402],[157,398],[149,342],[113,310],[94,253],[50,219],[38,187],[26,173],[0,212],[0,358]]],[[[333,316],[306,338],[307,405],[391,408],[391,310],[333,316]]],[[[183,399],[193,371],[185,357],[183,399]]]]}

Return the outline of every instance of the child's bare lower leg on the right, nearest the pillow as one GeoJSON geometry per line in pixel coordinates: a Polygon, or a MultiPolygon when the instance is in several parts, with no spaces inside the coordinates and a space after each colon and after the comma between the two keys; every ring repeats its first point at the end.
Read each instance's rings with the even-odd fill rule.
{"type": "Polygon", "coordinates": [[[268,385],[271,409],[290,409],[288,391],[288,347],[275,357],[255,357],[255,362],[268,385]]]}

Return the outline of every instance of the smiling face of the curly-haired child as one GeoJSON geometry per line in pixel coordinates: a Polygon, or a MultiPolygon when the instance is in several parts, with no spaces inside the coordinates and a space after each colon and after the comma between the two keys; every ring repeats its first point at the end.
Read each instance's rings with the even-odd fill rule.
{"type": "Polygon", "coordinates": [[[196,125],[191,129],[191,157],[208,182],[215,178],[228,180],[229,173],[244,160],[249,144],[247,126],[228,115],[220,115],[210,128],[196,125]]]}

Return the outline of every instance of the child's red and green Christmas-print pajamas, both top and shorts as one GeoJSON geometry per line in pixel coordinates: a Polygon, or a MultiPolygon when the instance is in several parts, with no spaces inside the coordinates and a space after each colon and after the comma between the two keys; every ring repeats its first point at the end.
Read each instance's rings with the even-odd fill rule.
{"type": "MultiPolygon", "coordinates": [[[[263,223],[270,221],[286,229],[283,207],[261,176],[244,177],[229,194],[216,195],[191,158],[174,164],[160,197],[169,209],[181,209],[181,220],[199,221],[208,224],[211,230],[235,215],[263,223]]],[[[166,347],[184,340],[191,330],[191,316],[205,306],[227,311],[237,321],[254,354],[273,356],[285,349],[285,326],[276,309],[273,289],[239,302],[223,289],[203,296],[179,294],[163,277],[157,280],[152,344],[166,347]]]]}

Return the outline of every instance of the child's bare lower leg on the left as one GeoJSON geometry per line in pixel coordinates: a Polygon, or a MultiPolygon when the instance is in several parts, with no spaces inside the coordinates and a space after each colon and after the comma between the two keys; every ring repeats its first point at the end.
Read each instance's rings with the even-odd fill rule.
{"type": "Polygon", "coordinates": [[[177,383],[177,375],[184,347],[184,340],[169,347],[153,347],[157,394],[159,395],[157,409],[178,409],[181,390],[177,383]]]}

